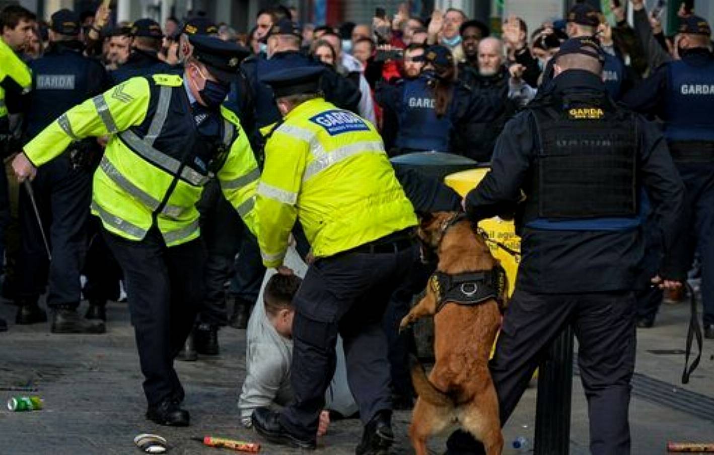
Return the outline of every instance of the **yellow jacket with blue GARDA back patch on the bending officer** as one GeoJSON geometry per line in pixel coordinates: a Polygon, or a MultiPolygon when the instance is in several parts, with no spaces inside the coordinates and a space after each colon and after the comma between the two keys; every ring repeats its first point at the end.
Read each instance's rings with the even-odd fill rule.
{"type": "Polygon", "coordinates": [[[375,127],[316,98],[273,131],[258,184],[258,243],[276,267],[299,219],[316,258],[416,225],[375,127]]]}

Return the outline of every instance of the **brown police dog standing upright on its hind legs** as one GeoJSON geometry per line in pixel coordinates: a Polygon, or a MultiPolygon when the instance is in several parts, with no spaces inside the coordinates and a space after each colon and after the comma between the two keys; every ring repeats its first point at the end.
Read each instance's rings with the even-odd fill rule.
{"type": "MultiPolygon", "coordinates": [[[[483,237],[467,219],[438,212],[422,219],[418,235],[425,246],[436,249],[438,271],[446,274],[491,270],[498,261],[483,237]]],[[[507,286],[503,286],[502,301],[507,286]]],[[[401,321],[401,329],[423,316],[434,316],[434,364],[428,378],[417,361],[411,377],[418,400],[409,436],[417,455],[426,455],[426,440],[433,434],[461,428],[483,442],[486,454],[501,454],[503,435],[496,389],[488,371],[488,356],[501,324],[495,299],[478,305],[447,303],[437,311],[433,285],[401,321]]]]}

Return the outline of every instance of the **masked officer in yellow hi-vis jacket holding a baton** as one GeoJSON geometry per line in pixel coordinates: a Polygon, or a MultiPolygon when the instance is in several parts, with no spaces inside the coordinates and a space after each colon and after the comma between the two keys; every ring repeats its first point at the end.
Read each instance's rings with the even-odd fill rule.
{"type": "Polygon", "coordinates": [[[91,211],[124,270],[136,331],[146,417],[186,426],[174,357],[203,297],[204,251],[195,204],[218,177],[226,199],[255,231],[258,166],[235,115],[221,106],[247,51],[192,36],[194,54],[181,76],[129,79],[62,114],[13,162],[32,178],[71,141],[110,134],[94,174],[91,211]]]}

